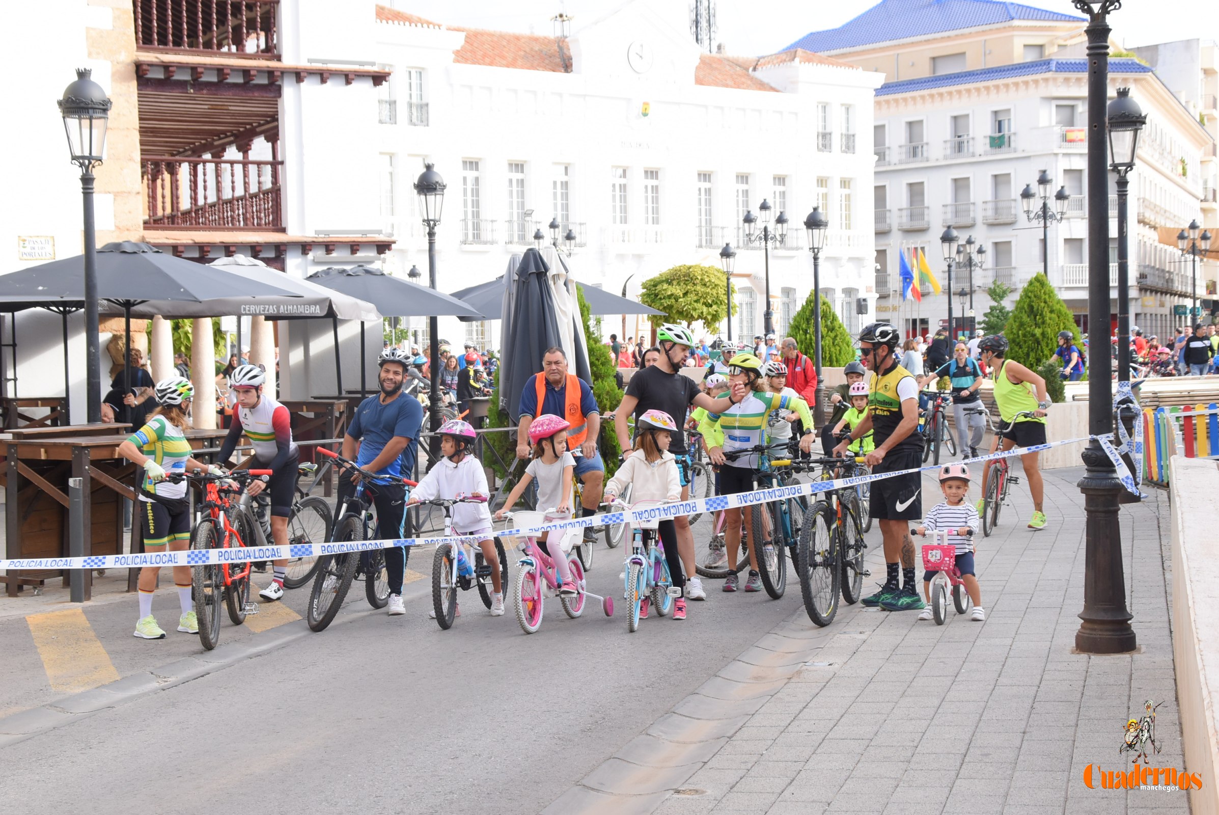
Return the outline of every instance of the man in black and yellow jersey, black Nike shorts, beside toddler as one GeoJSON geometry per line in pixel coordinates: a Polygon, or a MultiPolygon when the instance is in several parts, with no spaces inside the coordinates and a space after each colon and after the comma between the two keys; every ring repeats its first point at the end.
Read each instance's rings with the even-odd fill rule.
{"type": "MultiPolygon", "coordinates": [[[[923,437],[915,432],[918,382],[897,364],[894,351],[898,339],[897,328],[887,322],[870,323],[859,332],[861,361],[876,376],[868,395],[868,414],[851,431],[851,438],[834,448],[834,455],[847,455],[851,443],[872,431],[876,447],[867,455],[867,464],[873,473],[918,469],[923,462],[923,437]]],[[[863,598],[864,605],[889,611],[925,608],[914,583],[914,543],[909,536],[911,522],[923,517],[922,489],[919,472],[872,482],[868,514],[879,522],[884,539],[885,583],[863,598]]]]}

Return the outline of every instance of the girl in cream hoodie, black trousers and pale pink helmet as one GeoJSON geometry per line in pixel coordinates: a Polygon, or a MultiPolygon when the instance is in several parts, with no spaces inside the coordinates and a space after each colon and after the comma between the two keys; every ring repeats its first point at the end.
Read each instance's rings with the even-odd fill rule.
{"type": "MultiPolygon", "coordinates": [[[[618,472],[606,483],[606,503],[613,501],[627,484],[631,484],[634,501],[675,501],[681,498],[681,478],[678,476],[677,459],[669,453],[670,432],[679,429],[673,417],[663,410],[649,410],[635,422],[639,431],[635,449],[628,455],[618,472]]],[[[685,572],[677,547],[664,550],[673,584],[681,589],[673,604],[673,619],[685,620],[685,572]]],[[[647,600],[642,601],[640,617],[647,616],[647,600]]]]}

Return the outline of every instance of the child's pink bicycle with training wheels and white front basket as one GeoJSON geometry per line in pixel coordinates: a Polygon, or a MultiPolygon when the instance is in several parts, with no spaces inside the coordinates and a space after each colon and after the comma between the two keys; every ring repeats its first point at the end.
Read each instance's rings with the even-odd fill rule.
{"type": "MultiPolygon", "coordinates": [[[[558,520],[547,512],[533,511],[505,512],[503,517],[512,519],[516,526],[523,528],[558,520]]],[[[580,530],[564,531],[562,537],[552,532],[550,540],[546,542],[546,548],[551,551],[547,555],[538,545],[538,538],[534,536],[507,536],[508,539],[514,538],[516,547],[523,555],[517,561],[521,569],[517,572],[512,604],[516,606],[517,622],[521,623],[521,630],[527,634],[535,633],[541,628],[541,612],[546,597],[558,597],[563,611],[573,620],[584,612],[585,598],[601,600],[601,609],[606,616],[613,616],[613,600],[611,598],[591,594],[586,591],[584,566],[580,565],[580,559],[573,551],[573,544],[578,544],[580,537],[583,537],[580,530]],[[577,588],[574,595],[558,593],[561,581],[558,580],[558,570],[555,569],[555,556],[567,558],[567,567],[572,572],[572,582],[575,583],[577,588]]]]}

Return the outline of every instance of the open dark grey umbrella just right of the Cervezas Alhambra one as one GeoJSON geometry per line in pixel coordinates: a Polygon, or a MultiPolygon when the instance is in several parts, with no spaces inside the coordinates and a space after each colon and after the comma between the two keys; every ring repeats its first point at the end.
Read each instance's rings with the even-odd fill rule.
{"type": "MultiPolygon", "coordinates": [[[[311,283],[341,292],[368,303],[386,317],[479,317],[478,309],[441,292],[418,285],[385,273],[372,266],[328,266],[306,278],[311,283]]],[[[334,360],[339,362],[339,321],[334,320],[334,360]]],[[[434,362],[433,362],[434,364],[434,362]]],[[[360,322],[360,395],[367,392],[364,382],[364,322],[360,322]]],[[[339,393],[343,393],[343,375],[339,368],[339,393]]]]}

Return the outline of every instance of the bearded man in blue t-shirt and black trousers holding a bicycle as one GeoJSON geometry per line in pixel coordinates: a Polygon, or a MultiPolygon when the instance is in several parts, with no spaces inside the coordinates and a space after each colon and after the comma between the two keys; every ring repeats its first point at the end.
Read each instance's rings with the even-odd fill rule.
{"type": "MultiPolygon", "coordinates": [[[[355,459],[364,470],[393,476],[391,482],[364,484],[364,493],[377,506],[377,537],[397,539],[410,537],[406,516],[406,487],[402,477],[414,470],[414,456],[423,425],[423,406],[402,394],[402,381],[408,364],[399,348],[386,348],[377,360],[380,366],[380,393],[368,397],[356,409],[343,437],[343,456],[355,459]]],[[[339,505],[355,493],[358,472],[339,479],[339,505]]],[[[402,605],[402,580],[406,576],[405,547],[390,547],[385,553],[385,576],[389,581],[389,614],[406,614],[402,605]]]]}

